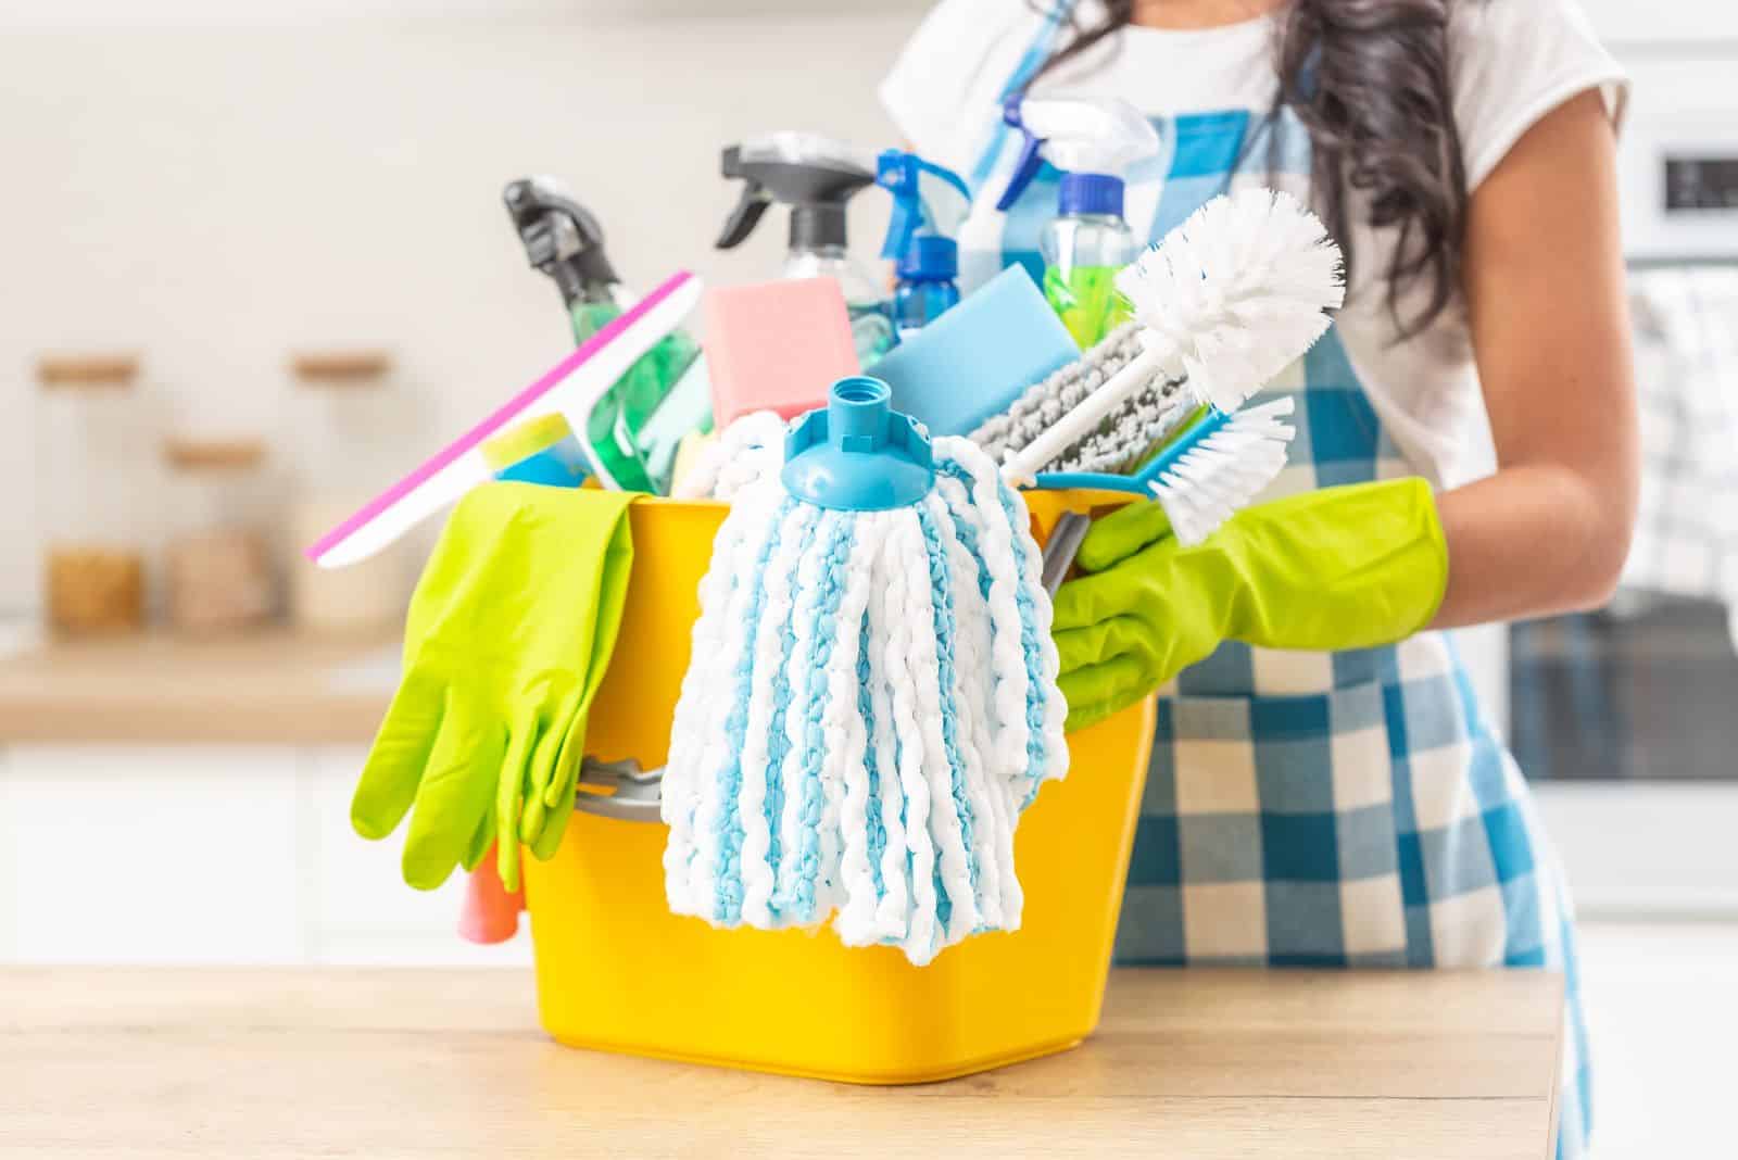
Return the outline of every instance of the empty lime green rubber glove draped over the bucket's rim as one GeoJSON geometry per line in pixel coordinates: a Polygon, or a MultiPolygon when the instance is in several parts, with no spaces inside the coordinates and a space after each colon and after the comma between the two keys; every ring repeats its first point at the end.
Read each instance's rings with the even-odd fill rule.
{"type": "Polygon", "coordinates": [[[405,622],[398,693],[349,816],[368,839],[410,811],[405,882],[434,889],[495,842],[520,884],[520,844],[561,842],[586,714],[620,625],[633,540],[626,491],[488,483],[459,502],[405,622]]]}

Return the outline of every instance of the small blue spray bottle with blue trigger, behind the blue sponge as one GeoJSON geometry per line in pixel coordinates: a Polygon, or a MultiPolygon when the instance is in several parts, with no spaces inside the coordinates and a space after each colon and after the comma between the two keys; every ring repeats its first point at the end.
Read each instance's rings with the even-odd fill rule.
{"type": "Polygon", "coordinates": [[[886,149],[876,158],[876,184],[893,194],[881,257],[895,260],[893,326],[904,342],[959,302],[959,243],[952,234],[972,208],[959,174],[916,153],[886,149]]]}

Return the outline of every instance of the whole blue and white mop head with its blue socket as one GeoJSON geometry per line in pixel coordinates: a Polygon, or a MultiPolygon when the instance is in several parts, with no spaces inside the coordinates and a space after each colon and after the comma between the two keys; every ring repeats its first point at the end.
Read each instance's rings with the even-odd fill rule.
{"type": "Polygon", "coordinates": [[[874,379],[735,491],[664,773],[666,893],[914,964],[1017,929],[1020,809],[1067,769],[1025,504],[874,379]]]}

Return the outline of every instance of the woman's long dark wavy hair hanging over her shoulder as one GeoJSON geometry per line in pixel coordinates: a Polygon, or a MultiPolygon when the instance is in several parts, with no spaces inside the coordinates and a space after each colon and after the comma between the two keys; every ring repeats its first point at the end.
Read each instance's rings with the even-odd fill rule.
{"type": "MultiPolygon", "coordinates": [[[[1277,19],[1279,92],[1270,118],[1291,109],[1314,146],[1317,208],[1352,252],[1352,194],[1370,224],[1394,229],[1383,271],[1387,306],[1413,335],[1458,300],[1467,234],[1467,172],[1448,78],[1448,14],[1455,0],[1291,0],[1277,19]],[[1404,290],[1427,297],[1399,316],[1404,290]]],[[[1133,0],[1104,0],[1104,19],[1076,23],[1038,76],[1081,56],[1133,19],[1133,0]]],[[[1031,82],[1027,82],[1031,83],[1031,82]]],[[[1269,134],[1277,141],[1277,134],[1269,134]]]]}

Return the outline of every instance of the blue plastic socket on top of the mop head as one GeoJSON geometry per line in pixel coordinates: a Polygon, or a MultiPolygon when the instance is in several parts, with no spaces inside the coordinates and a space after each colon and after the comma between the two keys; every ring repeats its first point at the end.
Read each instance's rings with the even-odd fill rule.
{"type": "Polygon", "coordinates": [[[780,479],[796,498],[846,512],[909,507],[935,486],[930,432],[890,406],[879,379],[839,379],[824,410],[786,436],[780,479]]]}

